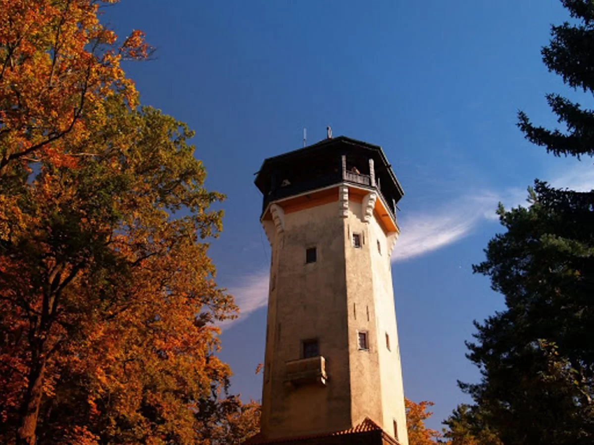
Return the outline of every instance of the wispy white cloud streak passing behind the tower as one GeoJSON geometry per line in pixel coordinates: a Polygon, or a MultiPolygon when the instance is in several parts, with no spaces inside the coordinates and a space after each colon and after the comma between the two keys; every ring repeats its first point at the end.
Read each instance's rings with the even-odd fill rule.
{"type": "MultiPolygon", "coordinates": [[[[594,167],[589,163],[577,164],[551,181],[555,187],[573,190],[594,189],[594,167]]],[[[392,261],[404,261],[442,249],[473,233],[479,224],[497,220],[495,209],[498,202],[506,207],[525,204],[526,188],[513,187],[500,192],[478,190],[474,193],[452,199],[443,206],[430,211],[410,211],[400,220],[402,235],[396,242],[392,261]]],[[[268,269],[236,281],[229,291],[235,295],[240,308],[237,320],[245,320],[249,314],[268,304],[268,269]]],[[[235,320],[235,321],[237,321],[235,320]]],[[[223,323],[222,328],[230,322],[223,323]]]]}

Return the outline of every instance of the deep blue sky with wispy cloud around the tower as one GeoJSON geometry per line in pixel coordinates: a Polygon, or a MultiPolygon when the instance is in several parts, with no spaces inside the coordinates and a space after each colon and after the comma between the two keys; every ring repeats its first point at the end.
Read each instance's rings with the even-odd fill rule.
{"type": "MultiPolygon", "coordinates": [[[[471,265],[500,230],[494,211],[524,202],[538,177],[594,187],[590,160],[554,158],[516,128],[525,110],[554,125],[544,94],[568,91],[539,50],[558,0],[123,0],[104,21],[147,33],[156,59],[126,66],[141,101],[196,131],[207,186],[226,193],[224,230],[211,246],[220,285],[242,316],[221,355],[233,392],[260,399],[270,249],[258,220],[254,172],[264,158],[326,135],[381,145],[405,189],[393,255],[406,396],[434,400],[441,419],[474,381],[464,341],[472,320],[503,307],[471,265]]],[[[591,106],[589,103],[585,103],[591,106]]]]}

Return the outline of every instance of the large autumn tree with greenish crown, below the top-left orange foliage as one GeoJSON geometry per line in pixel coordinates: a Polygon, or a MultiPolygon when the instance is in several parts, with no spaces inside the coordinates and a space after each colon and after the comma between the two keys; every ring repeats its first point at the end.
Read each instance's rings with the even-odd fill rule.
{"type": "Polygon", "coordinates": [[[0,411],[31,440],[195,443],[198,402],[228,385],[213,321],[235,306],[201,241],[222,197],[201,186],[184,125],[126,110],[125,152],[43,164],[20,185],[23,229],[6,222],[0,411]]]}

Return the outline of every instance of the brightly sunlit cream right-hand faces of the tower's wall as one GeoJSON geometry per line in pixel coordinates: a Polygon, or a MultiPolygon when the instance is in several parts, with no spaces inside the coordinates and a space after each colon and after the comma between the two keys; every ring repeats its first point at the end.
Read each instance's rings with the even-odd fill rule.
{"type": "Polygon", "coordinates": [[[349,215],[345,218],[345,255],[352,422],[356,425],[365,417],[374,419],[384,431],[398,436],[400,443],[407,445],[390,264],[391,239],[376,216],[365,218],[365,205],[349,201],[349,215]],[[353,233],[361,234],[359,249],[353,248],[353,233]],[[359,350],[359,331],[368,332],[368,351],[359,350]],[[394,434],[394,421],[398,434],[394,434]]]}

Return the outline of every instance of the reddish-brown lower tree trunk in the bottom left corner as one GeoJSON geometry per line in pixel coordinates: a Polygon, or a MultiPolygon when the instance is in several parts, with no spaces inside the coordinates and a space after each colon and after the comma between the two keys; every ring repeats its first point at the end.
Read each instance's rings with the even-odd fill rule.
{"type": "Polygon", "coordinates": [[[45,358],[40,358],[39,363],[31,367],[29,372],[29,386],[21,405],[21,412],[17,430],[17,445],[35,445],[37,437],[37,417],[43,393],[43,373],[45,371],[45,358]]]}

